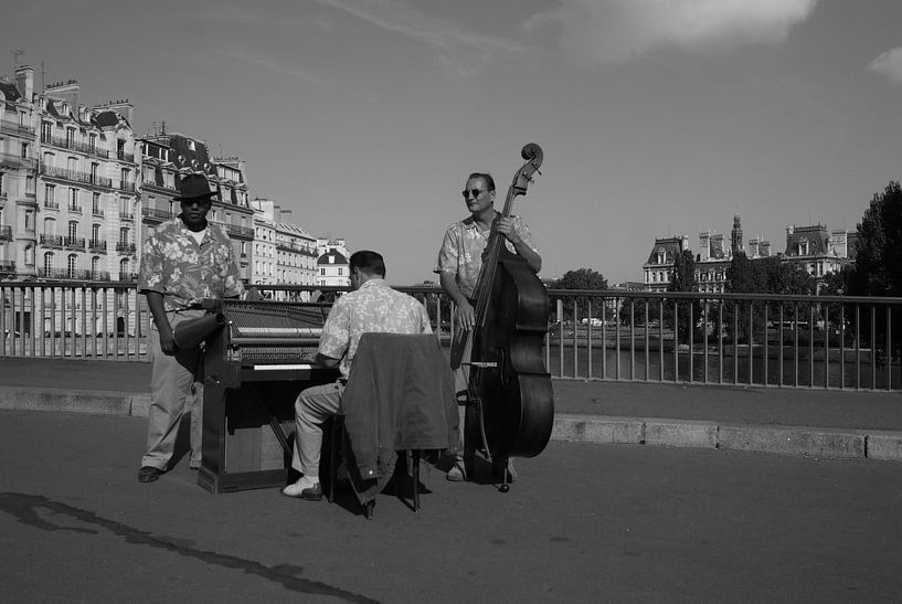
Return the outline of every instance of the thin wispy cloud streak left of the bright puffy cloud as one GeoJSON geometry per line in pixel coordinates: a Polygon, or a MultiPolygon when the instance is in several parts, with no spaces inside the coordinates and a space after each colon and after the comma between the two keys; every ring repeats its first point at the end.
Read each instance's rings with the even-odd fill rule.
{"type": "MultiPolygon", "coordinates": [[[[471,28],[429,17],[397,0],[316,0],[342,10],[383,30],[427,44],[438,51],[439,64],[464,65],[486,61],[497,53],[519,53],[524,46],[512,40],[485,35],[471,28]]],[[[465,68],[464,71],[469,71],[465,68]]]]}

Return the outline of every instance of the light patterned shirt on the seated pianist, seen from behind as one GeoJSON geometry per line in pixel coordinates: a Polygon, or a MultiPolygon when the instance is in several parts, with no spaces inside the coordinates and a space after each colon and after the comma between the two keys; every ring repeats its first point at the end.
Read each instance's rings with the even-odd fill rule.
{"type": "Polygon", "coordinates": [[[432,333],[432,327],[426,308],[416,298],[395,292],[383,279],[372,278],[332,305],[322,326],[319,353],[341,359],[339,371],[347,380],[360,337],[368,331],[432,333]]]}

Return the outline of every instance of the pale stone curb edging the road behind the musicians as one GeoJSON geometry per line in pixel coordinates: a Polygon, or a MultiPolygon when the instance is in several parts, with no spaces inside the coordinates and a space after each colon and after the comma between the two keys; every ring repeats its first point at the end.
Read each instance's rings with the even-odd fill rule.
{"type": "MultiPolygon", "coordinates": [[[[149,393],[0,386],[0,410],[147,417],[149,393]]],[[[693,420],[558,415],[552,441],[751,451],[806,457],[902,462],[902,432],[693,420]]]]}

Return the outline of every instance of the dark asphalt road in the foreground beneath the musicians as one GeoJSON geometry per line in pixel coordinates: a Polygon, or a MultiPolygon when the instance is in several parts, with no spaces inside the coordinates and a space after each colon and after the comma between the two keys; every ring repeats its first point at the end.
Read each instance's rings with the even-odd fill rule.
{"type": "Polygon", "coordinates": [[[508,494],[423,471],[365,520],[136,479],[136,417],[0,413],[6,602],[890,602],[898,464],[553,442],[508,494]]]}

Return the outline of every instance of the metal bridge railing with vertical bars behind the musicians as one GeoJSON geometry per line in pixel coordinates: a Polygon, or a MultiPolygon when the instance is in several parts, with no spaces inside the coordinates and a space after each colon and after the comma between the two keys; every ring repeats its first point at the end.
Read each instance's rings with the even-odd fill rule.
{"type": "MultiPolygon", "coordinates": [[[[276,300],[347,287],[251,286],[276,300]]],[[[248,288],[248,289],[251,289],[248,288]]],[[[424,303],[445,343],[454,305],[424,303]]],[[[553,378],[774,388],[902,390],[902,298],[549,292],[542,353],[553,378]]],[[[150,314],[134,283],[0,282],[0,357],[146,360],[150,314]]]]}

